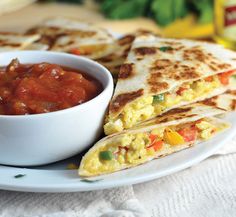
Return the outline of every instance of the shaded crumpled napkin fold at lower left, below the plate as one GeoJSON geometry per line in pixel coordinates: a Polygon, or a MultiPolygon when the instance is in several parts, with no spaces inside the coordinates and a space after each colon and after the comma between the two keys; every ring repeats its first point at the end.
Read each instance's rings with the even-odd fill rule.
{"type": "Polygon", "coordinates": [[[0,191],[1,217],[145,217],[133,188],[78,193],[0,191]]]}

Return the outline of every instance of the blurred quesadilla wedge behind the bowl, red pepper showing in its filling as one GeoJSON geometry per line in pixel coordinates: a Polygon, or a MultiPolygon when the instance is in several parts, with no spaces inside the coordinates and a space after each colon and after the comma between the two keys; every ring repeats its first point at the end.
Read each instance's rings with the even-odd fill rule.
{"type": "Polygon", "coordinates": [[[92,59],[114,50],[114,38],[105,29],[69,18],[52,18],[28,33],[42,35],[41,43],[51,50],[73,53],[92,59]]]}

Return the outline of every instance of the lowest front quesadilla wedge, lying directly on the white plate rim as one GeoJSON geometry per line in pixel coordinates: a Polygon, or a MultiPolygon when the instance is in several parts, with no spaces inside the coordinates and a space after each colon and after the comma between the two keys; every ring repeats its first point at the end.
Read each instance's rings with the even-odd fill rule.
{"type": "Polygon", "coordinates": [[[107,136],[82,158],[79,175],[97,176],[135,167],[206,141],[229,127],[213,117],[224,112],[195,103],[107,136]]]}

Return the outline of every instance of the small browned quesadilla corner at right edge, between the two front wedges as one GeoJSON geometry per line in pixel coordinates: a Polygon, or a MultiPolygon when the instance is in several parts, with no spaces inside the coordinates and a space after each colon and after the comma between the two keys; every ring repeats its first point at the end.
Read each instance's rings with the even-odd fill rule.
{"type": "Polygon", "coordinates": [[[228,90],[223,94],[204,100],[203,103],[217,106],[227,111],[236,111],[236,90],[228,90]]]}

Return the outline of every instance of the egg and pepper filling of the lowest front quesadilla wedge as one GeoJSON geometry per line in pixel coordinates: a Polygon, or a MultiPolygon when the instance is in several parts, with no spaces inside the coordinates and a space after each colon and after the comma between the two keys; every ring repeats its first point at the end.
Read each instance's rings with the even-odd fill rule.
{"type": "Polygon", "coordinates": [[[209,139],[218,130],[207,119],[202,119],[194,123],[157,128],[151,132],[124,134],[91,153],[85,159],[84,169],[93,174],[114,172],[126,165],[138,165],[157,155],[172,153],[178,145],[209,139]],[[195,137],[187,142],[185,137],[189,138],[189,133],[182,135],[180,132],[190,126],[194,126],[195,137]]]}

